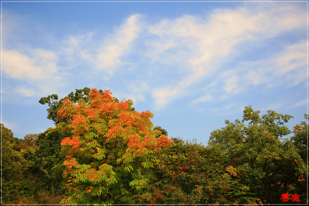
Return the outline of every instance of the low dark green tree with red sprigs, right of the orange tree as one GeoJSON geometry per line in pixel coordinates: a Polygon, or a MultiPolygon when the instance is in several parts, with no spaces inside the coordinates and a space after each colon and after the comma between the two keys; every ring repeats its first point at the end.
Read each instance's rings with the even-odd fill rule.
{"type": "Polygon", "coordinates": [[[160,162],[146,172],[150,179],[137,195],[140,204],[218,204],[228,203],[230,177],[221,155],[214,148],[171,138],[173,145],[156,154],[160,162]]]}

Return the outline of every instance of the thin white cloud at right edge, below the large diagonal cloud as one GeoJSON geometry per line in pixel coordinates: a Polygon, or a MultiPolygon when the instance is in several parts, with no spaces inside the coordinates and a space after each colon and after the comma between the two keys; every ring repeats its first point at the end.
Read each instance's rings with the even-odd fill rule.
{"type": "Polygon", "coordinates": [[[286,46],[281,52],[268,59],[255,62],[242,62],[238,71],[242,71],[243,87],[250,84],[266,84],[267,87],[292,86],[307,78],[307,41],[286,46]],[[250,70],[248,70],[250,68],[250,70]]]}

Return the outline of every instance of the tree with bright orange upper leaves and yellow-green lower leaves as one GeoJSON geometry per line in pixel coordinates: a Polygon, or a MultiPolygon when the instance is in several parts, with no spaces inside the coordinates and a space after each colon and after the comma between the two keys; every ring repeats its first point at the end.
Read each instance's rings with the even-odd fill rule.
{"type": "MultiPolygon", "coordinates": [[[[88,103],[75,105],[69,99],[57,112],[60,122],[49,132],[71,134],[61,141],[63,162],[61,187],[66,196],[61,204],[121,204],[143,188],[148,179],[133,175],[158,162],[155,152],[171,139],[153,131],[150,111],[132,111],[133,102],[113,101],[112,92],[92,89],[88,103]]],[[[55,171],[61,168],[55,166],[55,171]],[[58,168],[57,168],[58,167],[58,168]]]]}

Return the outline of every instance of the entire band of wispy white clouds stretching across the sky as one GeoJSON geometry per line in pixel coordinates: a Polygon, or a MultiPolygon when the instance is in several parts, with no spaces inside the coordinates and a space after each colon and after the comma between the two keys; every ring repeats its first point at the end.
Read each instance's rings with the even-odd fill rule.
{"type": "MultiPolygon", "coordinates": [[[[148,23],[145,15],[131,15],[108,36],[96,31],[73,34],[60,41],[59,50],[4,50],[3,71],[41,87],[42,81],[60,82],[61,75],[70,72],[67,68],[83,65],[83,72],[93,79],[114,81],[127,70],[124,65],[133,65],[131,72],[137,75],[126,81],[123,93],[138,101],[149,94],[155,109],[193,94],[200,96],[191,103],[199,104],[224,100],[252,85],[299,84],[306,77],[305,41],[287,44],[268,58],[222,66],[251,45],[306,27],[306,11],[301,8],[259,5],[217,9],[205,16],[183,15],[157,24],[148,23]]],[[[75,81],[83,78],[74,76],[75,81]]],[[[33,95],[30,88],[19,91],[33,95]]]]}

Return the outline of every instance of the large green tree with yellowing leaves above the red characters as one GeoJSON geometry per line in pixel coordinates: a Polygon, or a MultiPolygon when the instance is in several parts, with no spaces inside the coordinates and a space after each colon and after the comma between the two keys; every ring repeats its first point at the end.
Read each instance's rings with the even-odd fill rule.
{"type": "Polygon", "coordinates": [[[282,204],[281,194],[299,192],[297,183],[304,181],[306,165],[292,141],[282,139],[290,134],[284,123],[293,117],[271,110],[259,114],[245,107],[242,121],[226,120],[226,127],[211,133],[209,145],[226,156],[225,170],[234,181],[227,193],[230,202],[248,204],[253,199],[256,204],[282,204]]]}

